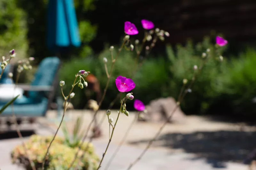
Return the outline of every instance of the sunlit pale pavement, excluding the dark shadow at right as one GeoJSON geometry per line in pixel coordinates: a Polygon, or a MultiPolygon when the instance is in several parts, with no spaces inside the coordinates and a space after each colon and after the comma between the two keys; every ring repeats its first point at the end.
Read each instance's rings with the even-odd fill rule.
{"type": "MultiPolygon", "coordinates": [[[[78,115],[78,114],[77,114],[78,115]]],[[[102,115],[103,112],[102,112],[102,115]]],[[[115,119],[116,115],[112,115],[115,119]]],[[[105,159],[102,163],[102,168],[104,169],[105,165],[107,164],[111,154],[117,147],[117,144],[122,138],[122,134],[124,133],[124,127],[129,125],[129,122],[132,121],[133,114],[130,114],[129,118],[125,116],[121,116],[119,126],[117,126],[116,134],[113,137],[113,142],[110,144],[108,148],[108,152],[105,156],[105,159]],[[121,126],[122,125],[122,126],[121,126]]],[[[73,112],[72,115],[67,116],[69,118],[76,117],[76,114],[73,112]]],[[[85,113],[84,123],[87,124],[90,121],[91,115],[85,113]]],[[[41,135],[50,135],[54,132],[54,123],[49,121],[51,116],[48,116],[47,119],[40,119],[39,124],[35,125],[35,132],[36,134],[41,135]],[[47,125],[47,123],[49,124],[47,125]]],[[[67,119],[68,120],[68,119],[67,119]]],[[[196,120],[193,120],[195,122],[196,120]]],[[[189,122],[188,122],[189,123],[189,122]]],[[[146,143],[140,144],[132,144],[134,141],[138,140],[146,140],[152,137],[155,132],[157,131],[158,127],[161,124],[152,124],[152,123],[136,123],[134,128],[131,130],[130,135],[128,136],[127,143],[121,147],[120,151],[116,155],[116,158],[113,160],[111,166],[108,168],[109,170],[126,170],[129,164],[137,158],[137,156],[142,152],[146,143]],[[148,131],[145,131],[148,129],[148,131]],[[144,134],[140,133],[143,132],[144,134]],[[143,134],[143,135],[141,135],[143,134]]],[[[71,125],[70,125],[71,126],[71,125]]],[[[108,128],[104,128],[105,126],[108,127],[108,123],[105,121],[103,123],[103,137],[95,139],[93,144],[95,146],[96,152],[99,156],[102,155],[102,152],[105,150],[108,141],[108,128]]],[[[178,131],[182,125],[168,125],[163,134],[166,132],[170,132],[169,129],[171,128],[172,131],[178,131]],[[176,127],[178,126],[178,127],[176,127]],[[175,128],[176,127],[176,128],[175,128]],[[175,130],[176,129],[176,130],[175,130]]],[[[204,124],[201,124],[204,126],[204,124]]],[[[209,124],[208,124],[209,126],[209,124]]],[[[232,125],[230,125],[232,126],[232,125]]],[[[233,126],[234,127],[234,126],[233,126]]],[[[186,129],[187,127],[181,128],[179,131],[189,131],[186,129]]],[[[215,127],[216,128],[216,127],[215,127]]],[[[218,128],[229,129],[229,124],[226,126],[218,124],[218,128]],[[222,127],[223,126],[223,127],[222,127]]],[[[191,128],[190,128],[191,129],[191,128]]],[[[193,128],[192,128],[193,129],[193,128]]],[[[205,129],[205,128],[204,128],[205,129]]],[[[214,129],[214,128],[213,128],[214,129]]],[[[199,129],[197,129],[199,130],[199,129]]],[[[207,130],[207,129],[205,129],[207,130]]],[[[210,131],[210,129],[208,129],[210,131]]],[[[229,129],[230,130],[230,129],[229,129]]],[[[2,134],[0,134],[1,137],[2,134]]],[[[61,135],[61,133],[60,133],[61,135]]],[[[24,140],[28,139],[25,137],[24,140]]],[[[142,141],[143,141],[142,140],[142,141]]],[[[10,158],[10,153],[12,148],[21,143],[21,139],[19,138],[12,138],[12,139],[2,139],[0,140],[0,169],[1,170],[23,170],[22,167],[17,165],[13,165],[10,158]]],[[[247,170],[248,167],[246,165],[240,163],[233,163],[230,161],[227,162],[218,162],[214,159],[205,159],[202,157],[197,157],[196,154],[193,153],[186,153],[183,151],[170,150],[168,147],[160,146],[160,142],[156,142],[153,148],[148,150],[145,156],[136,164],[132,170],[210,170],[210,169],[225,169],[225,170],[247,170]],[[158,144],[158,145],[157,145],[158,144]]]]}

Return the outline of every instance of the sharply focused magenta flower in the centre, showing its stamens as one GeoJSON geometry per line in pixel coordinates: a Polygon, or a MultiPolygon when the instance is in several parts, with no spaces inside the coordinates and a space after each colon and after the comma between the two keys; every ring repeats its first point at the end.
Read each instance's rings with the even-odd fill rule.
{"type": "Polygon", "coordinates": [[[131,78],[118,76],[116,78],[116,87],[119,92],[129,92],[135,88],[135,83],[131,78]]]}

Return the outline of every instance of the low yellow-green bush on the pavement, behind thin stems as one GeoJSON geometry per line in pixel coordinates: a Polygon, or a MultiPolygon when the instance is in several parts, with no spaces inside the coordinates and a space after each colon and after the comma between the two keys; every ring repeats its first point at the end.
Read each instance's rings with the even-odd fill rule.
{"type": "MultiPolygon", "coordinates": [[[[52,136],[39,136],[33,135],[25,142],[28,149],[29,158],[35,163],[36,168],[42,167],[42,161],[44,159],[45,151],[52,140],[52,136]]],[[[87,143],[84,143],[79,155],[81,156],[83,150],[85,150],[87,143]]],[[[71,164],[77,147],[69,147],[65,144],[65,140],[61,137],[55,137],[52,147],[49,151],[49,156],[47,157],[46,166],[48,170],[50,169],[67,169],[71,164]]],[[[28,158],[25,154],[23,145],[16,146],[12,151],[12,161],[20,162],[26,166],[27,169],[31,169],[28,163],[28,158]]],[[[89,144],[89,148],[85,153],[84,159],[79,163],[79,169],[94,170],[98,167],[98,156],[94,153],[94,148],[92,144],[89,144]]],[[[77,166],[78,160],[72,167],[77,166]]]]}

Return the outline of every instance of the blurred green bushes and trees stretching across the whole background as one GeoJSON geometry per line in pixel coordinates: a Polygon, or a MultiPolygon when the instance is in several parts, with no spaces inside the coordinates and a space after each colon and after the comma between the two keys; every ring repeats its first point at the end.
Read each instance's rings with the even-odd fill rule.
{"type": "MultiPolygon", "coordinates": [[[[110,61],[110,45],[114,45],[114,53],[117,52],[120,37],[124,34],[123,23],[127,15],[124,9],[119,8],[121,4],[117,0],[108,2],[74,0],[74,2],[82,46],[62,56],[60,79],[64,80],[66,85],[70,85],[78,70],[88,70],[98,78],[101,92],[103,92],[107,77],[102,59],[106,57],[110,61]]],[[[54,55],[46,48],[47,3],[47,0],[0,0],[0,6],[4,7],[0,13],[2,55],[15,48],[18,59],[34,56],[35,64],[46,56],[54,55]]],[[[142,31],[139,26],[140,19],[130,18],[137,24],[139,31],[142,31]]],[[[169,39],[172,39],[172,33],[170,34],[169,39]]],[[[192,93],[189,93],[182,103],[183,111],[186,114],[254,116],[256,112],[253,102],[253,98],[256,97],[254,43],[248,41],[241,45],[241,42],[234,38],[228,39],[228,46],[222,49],[224,61],[220,63],[216,60],[218,55],[213,51],[216,33],[208,34],[210,36],[205,36],[201,39],[202,42],[197,38],[195,42],[192,40],[181,44],[161,42],[162,47],[156,46],[150,55],[143,58],[143,65],[133,78],[136,83],[133,91],[135,98],[142,100],[145,104],[161,97],[177,98],[182,79],[191,79],[193,65],[200,65],[202,53],[210,48],[212,59],[203,68],[192,88],[192,93]]],[[[141,36],[142,34],[137,38],[141,36]]],[[[121,51],[102,108],[107,108],[116,97],[115,78],[119,75],[132,77],[132,71],[136,66],[135,55],[134,51],[121,51]]],[[[110,62],[108,67],[110,69],[110,62]]],[[[33,72],[23,76],[21,81],[30,81],[32,75],[33,72]]],[[[69,86],[65,86],[64,92],[67,92],[68,88],[69,86]]],[[[76,97],[72,102],[75,108],[85,107],[87,103],[85,90],[75,88],[76,97]]],[[[96,99],[96,95],[93,94],[92,98],[96,99]]],[[[132,104],[129,107],[133,109],[132,104]]]]}

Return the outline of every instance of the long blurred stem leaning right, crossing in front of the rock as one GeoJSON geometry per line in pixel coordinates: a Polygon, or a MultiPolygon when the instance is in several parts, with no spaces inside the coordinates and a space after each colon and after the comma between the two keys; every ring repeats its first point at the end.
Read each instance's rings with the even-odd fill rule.
{"type": "MultiPolygon", "coordinates": [[[[209,57],[208,57],[209,58],[209,57]]],[[[172,116],[173,114],[175,113],[175,111],[178,109],[178,107],[180,106],[180,103],[183,101],[184,97],[186,96],[187,92],[188,92],[188,89],[190,89],[193,85],[193,83],[195,82],[195,79],[196,79],[196,75],[198,75],[201,70],[202,70],[202,67],[203,65],[206,63],[207,59],[204,60],[204,62],[201,62],[200,64],[200,67],[199,67],[199,70],[196,72],[194,72],[194,75],[193,75],[193,78],[192,78],[192,81],[191,83],[188,85],[188,88],[183,92],[183,89],[184,89],[184,85],[183,87],[181,88],[181,91],[180,91],[180,99],[177,101],[176,103],[176,106],[174,107],[172,113],[170,114],[170,116],[166,119],[166,121],[164,122],[164,124],[160,127],[160,129],[157,131],[156,135],[148,142],[146,148],[141,152],[141,154],[135,159],[135,161],[133,161],[130,166],[127,168],[127,170],[130,170],[132,169],[132,166],[134,166],[142,157],[143,155],[148,151],[148,149],[150,148],[150,146],[153,144],[153,142],[156,140],[156,138],[160,135],[160,133],[162,132],[162,130],[164,129],[165,125],[170,122],[170,120],[172,119],[172,116]]]]}

